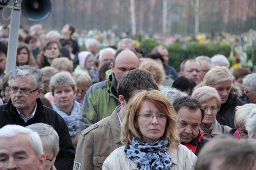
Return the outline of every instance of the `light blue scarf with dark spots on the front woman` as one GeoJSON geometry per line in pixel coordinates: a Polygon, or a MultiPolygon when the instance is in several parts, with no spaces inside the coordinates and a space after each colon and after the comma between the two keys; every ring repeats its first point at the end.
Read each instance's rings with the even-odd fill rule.
{"type": "Polygon", "coordinates": [[[168,145],[168,140],[149,144],[133,137],[131,144],[124,146],[124,151],[129,159],[138,164],[138,170],[171,170],[172,159],[167,153],[168,145]]]}

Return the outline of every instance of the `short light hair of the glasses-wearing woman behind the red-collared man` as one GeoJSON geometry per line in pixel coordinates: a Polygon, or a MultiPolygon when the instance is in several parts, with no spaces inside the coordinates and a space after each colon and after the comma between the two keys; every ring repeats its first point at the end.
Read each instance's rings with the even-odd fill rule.
{"type": "Polygon", "coordinates": [[[217,102],[217,108],[221,107],[221,98],[216,89],[210,86],[199,87],[192,93],[191,97],[196,98],[200,103],[207,102],[214,98],[217,102]]]}

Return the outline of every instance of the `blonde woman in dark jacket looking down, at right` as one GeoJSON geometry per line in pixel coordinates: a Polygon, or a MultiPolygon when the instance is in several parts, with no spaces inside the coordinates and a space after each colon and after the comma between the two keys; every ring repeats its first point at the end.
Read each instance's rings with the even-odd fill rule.
{"type": "Polygon", "coordinates": [[[201,83],[202,86],[210,86],[217,90],[221,98],[221,108],[216,119],[221,125],[227,125],[231,128],[234,128],[235,108],[244,105],[239,96],[230,92],[233,81],[234,77],[227,67],[215,66],[204,76],[201,83]]]}

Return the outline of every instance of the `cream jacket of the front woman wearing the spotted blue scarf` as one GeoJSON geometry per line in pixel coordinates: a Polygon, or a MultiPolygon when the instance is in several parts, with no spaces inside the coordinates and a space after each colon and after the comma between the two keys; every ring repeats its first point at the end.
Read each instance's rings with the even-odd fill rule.
{"type": "MultiPolygon", "coordinates": [[[[178,148],[168,149],[172,158],[172,170],[193,170],[195,169],[197,157],[186,146],[180,144],[178,148]]],[[[137,163],[129,159],[123,146],[114,150],[103,163],[103,170],[136,170],[137,163]]]]}

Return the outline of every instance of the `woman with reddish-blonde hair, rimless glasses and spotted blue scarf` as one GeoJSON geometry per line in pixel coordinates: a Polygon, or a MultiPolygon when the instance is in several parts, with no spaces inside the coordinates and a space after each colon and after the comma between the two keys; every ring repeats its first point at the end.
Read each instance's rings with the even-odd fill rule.
{"type": "Polygon", "coordinates": [[[193,169],[196,156],[180,144],[172,104],[159,91],[139,91],[122,122],[124,146],[114,150],[102,169],[193,169]]]}

